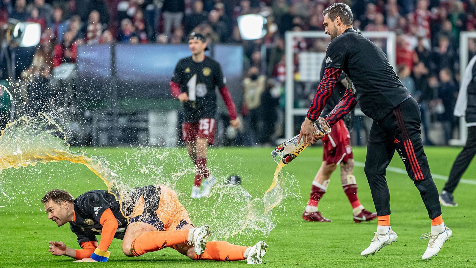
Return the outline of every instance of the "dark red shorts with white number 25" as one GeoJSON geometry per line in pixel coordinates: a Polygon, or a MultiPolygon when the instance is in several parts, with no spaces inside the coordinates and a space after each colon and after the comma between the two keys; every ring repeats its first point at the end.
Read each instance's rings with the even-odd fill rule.
{"type": "Polygon", "coordinates": [[[185,142],[194,142],[197,138],[208,139],[208,144],[215,141],[215,119],[202,118],[198,122],[183,123],[182,137],[185,142]]]}

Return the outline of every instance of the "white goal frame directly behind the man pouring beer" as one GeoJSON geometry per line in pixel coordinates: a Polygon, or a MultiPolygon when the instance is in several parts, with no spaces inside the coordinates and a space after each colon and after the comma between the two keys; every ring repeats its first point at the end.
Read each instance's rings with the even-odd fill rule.
{"type": "MultiPolygon", "coordinates": [[[[386,54],[388,61],[397,69],[397,57],[396,57],[396,34],[392,31],[362,31],[362,35],[368,39],[385,39],[386,54]]],[[[296,38],[320,38],[329,39],[329,35],[324,31],[287,31],[286,32],[286,111],[285,111],[285,139],[289,139],[295,135],[294,133],[294,117],[296,115],[306,115],[306,108],[295,108],[295,81],[294,81],[294,40],[296,38]]],[[[330,41],[330,40],[329,40],[330,41]]],[[[309,61],[313,61],[317,64],[316,68],[320,70],[322,60],[317,61],[319,57],[314,57],[309,61]]],[[[360,110],[356,110],[357,115],[364,115],[360,110]]]]}

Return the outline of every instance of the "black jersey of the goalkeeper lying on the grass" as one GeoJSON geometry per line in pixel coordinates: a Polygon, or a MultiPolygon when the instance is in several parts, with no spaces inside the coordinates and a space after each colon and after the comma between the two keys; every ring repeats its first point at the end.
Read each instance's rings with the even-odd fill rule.
{"type": "Polygon", "coordinates": [[[78,243],[97,241],[96,235],[101,234],[102,225],[99,223],[102,213],[108,208],[116,217],[119,227],[115,238],[123,239],[128,221],[120,211],[116,197],[108,191],[94,190],[86,192],[74,199],[76,222],[69,222],[71,231],[78,236],[78,243]]]}

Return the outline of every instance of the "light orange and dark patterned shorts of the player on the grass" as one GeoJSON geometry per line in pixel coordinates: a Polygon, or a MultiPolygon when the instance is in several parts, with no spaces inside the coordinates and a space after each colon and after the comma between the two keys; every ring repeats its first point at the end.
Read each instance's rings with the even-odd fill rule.
{"type": "Polygon", "coordinates": [[[145,222],[159,231],[181,230],[192,225],[185,207],[177,194],[163,185],[141,187],[142,196],[137,200],[129,222],[145,222]]]}

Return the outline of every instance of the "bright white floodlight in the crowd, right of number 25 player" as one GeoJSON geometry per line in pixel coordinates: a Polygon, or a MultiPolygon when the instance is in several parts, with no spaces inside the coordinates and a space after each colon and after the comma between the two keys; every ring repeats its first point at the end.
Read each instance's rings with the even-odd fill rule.
{"type": "Polygon", "coordinates": [[[258,14],[238,16],[238,30],[243,40],[263,38],[268,33],[267,20],[258,14]]]}

